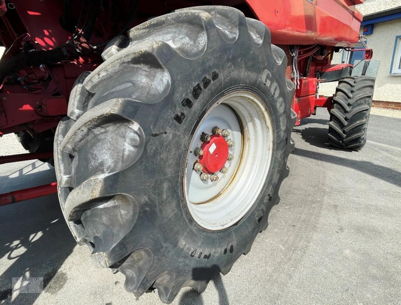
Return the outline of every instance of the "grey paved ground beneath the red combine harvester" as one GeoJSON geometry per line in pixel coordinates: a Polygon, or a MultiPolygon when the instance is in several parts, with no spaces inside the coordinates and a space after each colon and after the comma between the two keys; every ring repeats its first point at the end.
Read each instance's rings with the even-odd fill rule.
{"type": "MultiPolygon", "coordinates": [[[[290,177],[268,230],[229,275],[201,296],[182,289],[174,304],[400,304],[401,119],[393,116],[371,115],[358,152],[325,144],[324,109],[294,128],[290,177]]],[[[0,139],[0,153],[14,142],[0,139]]],[[[0,166],[1,192],[54,180],[39,161],[0,166]]],[[[76,246],[57,196],[0,208],[0,232],[0,302],[134,303],[123,275],[97,269],[76,246]],[[21,276],[44,277],[43,293],[10,297],[11,278],[21,276]]],[[[157,293],[136,302],[159,303],[157,293]]]]}

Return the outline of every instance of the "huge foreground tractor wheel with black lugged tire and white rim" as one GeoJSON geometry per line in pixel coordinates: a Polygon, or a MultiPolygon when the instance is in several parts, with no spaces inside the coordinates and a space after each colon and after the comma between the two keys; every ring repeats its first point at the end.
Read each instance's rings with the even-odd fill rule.
{"type": "Polygon", "coordinates": [[[294,148],[294,84],[266,26],[234,8],[179,10],[116,41],[56,132],[61,208],[128,291],[170,303],[227,274],[266,228],[294,148]]]}

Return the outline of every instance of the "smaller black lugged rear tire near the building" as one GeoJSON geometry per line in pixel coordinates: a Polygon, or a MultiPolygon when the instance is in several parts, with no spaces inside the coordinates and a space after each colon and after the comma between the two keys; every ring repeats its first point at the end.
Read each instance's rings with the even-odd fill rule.
{"type": "Polygon", "coordinates": [[[328,124],[331,145],[344,149],[361,149],[365,145],[374,87],[374,77],[340,79],[328,124]]]}

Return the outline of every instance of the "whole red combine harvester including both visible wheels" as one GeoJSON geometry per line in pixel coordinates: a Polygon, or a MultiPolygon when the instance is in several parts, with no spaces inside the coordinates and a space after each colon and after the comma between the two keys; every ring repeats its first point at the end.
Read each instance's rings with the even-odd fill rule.
{"type": "Polygon", "coordinates": [[[202,293],[267,227],[294,124],[325,107],[332,145],[365,144],[372,50],[362,75],[331,64],[363,43],[362,2],[1,0],[0,135],[30,153],[0,162],[47,161],[57,183],[0,205],[58,192],[128,291],[202,293]]]}

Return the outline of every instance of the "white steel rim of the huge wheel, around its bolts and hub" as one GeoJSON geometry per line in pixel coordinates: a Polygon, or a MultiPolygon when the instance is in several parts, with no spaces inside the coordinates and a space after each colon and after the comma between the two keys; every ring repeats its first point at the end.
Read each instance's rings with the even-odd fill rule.
{"type": "Polygon", "coordinates": [[[219,99],[199,124],[188,151],[184,192],[194,221],[207,230],[222,230],[237,223],[251,209],[267,178],[273,155],[273,121],[263,101],[248,91],[235,91],[219,99]],[[194,170],[202,132],[218,126],[229,129],[234,147],[227,161],[228,172],[217,182],[202,181],[194,170]]]}

